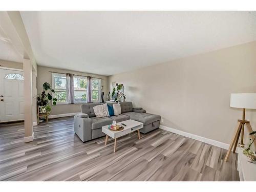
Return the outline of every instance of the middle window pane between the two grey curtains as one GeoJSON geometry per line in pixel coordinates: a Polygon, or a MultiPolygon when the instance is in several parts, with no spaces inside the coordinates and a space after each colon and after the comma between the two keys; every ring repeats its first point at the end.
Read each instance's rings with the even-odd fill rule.
{"type": "Polygon", "coordinates": [[[75,103],[87,101],[87,77],[74,77],[74,100],[75,103]]]}

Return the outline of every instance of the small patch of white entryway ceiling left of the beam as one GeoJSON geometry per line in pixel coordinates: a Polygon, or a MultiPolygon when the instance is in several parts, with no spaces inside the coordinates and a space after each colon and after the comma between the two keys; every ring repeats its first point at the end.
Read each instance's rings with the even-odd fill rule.
{"type": "MultiPolygon", "coordinates": [[[[12,41],[0,26],[0,59],[22,62],[22,55],[18,53],[12,41]]],[[[1,63],[0,63],[1,64],[1,63]]]]}

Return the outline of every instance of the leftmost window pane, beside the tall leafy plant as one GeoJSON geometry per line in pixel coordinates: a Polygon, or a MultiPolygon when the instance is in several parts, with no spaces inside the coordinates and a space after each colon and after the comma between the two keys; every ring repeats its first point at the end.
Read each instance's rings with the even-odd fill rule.
{"type": "Polygon", "coordinates": [[[55,90],[54,97],[57,103],[67,103],[66,75],[52,73],[52,88],[55,90]]]}

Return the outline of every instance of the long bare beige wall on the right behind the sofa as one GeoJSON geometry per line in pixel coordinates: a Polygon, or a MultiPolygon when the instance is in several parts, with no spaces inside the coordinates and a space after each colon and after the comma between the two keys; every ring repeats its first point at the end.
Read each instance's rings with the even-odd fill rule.
{"type": "MultiPolygon", "coordinates": [[[[123,83],[127,100],[161,115],[165,126],[230,143],[242,118],[229,106],[230,93],[256,93],[255,72],[253,41],[112,75],[109,84],[123,83]]],[[[256,110],[247,110],[246,119],[256,130],[256,110]]]]}

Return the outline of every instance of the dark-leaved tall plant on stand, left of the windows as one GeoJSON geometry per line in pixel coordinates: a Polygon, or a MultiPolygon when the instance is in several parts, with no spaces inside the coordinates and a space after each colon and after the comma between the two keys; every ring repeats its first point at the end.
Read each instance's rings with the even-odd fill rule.
{"type": "Polygon", "coordinates": [[[36,96],[37,105],[43,107],[42,109],[50,113],[51,111],[51,105],[50,101],[52,100],[52,104],[56,105],[56,98],[52,97],[52,93],[55,93],[54,89],[51,89],[51,85],[48,82],[45,82],[42,84],[42,88],[44,91],[41,92],[41,94],[38,94],[36,96]]]}

